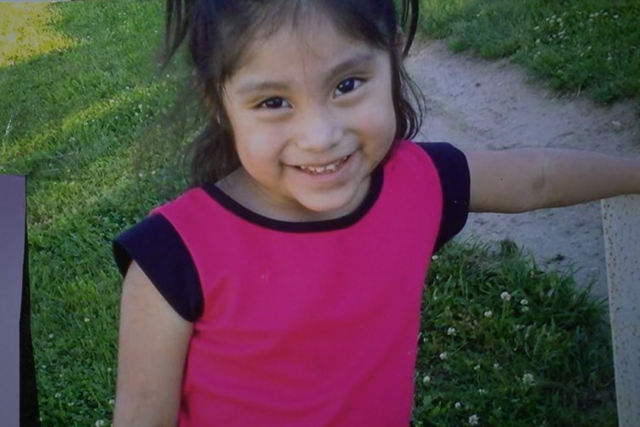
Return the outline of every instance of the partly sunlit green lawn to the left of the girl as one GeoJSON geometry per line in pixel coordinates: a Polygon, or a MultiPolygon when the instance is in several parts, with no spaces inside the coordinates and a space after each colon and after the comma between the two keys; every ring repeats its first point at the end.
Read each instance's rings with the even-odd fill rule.
{"type": "Polygon", "coordinates": [[[139,178],[134,163],[175,82],[156,77],[160,2],[41,6],[0,4],[3,32],[7,22],[33,26],[30,48],[13,49],[19,58],[0,45],[0,173],[27,175],[43,426],[92,426],[110,419],[114,397],[120,279],[110,240],[161,201],[148,178],[163,171],[139,178]]]}

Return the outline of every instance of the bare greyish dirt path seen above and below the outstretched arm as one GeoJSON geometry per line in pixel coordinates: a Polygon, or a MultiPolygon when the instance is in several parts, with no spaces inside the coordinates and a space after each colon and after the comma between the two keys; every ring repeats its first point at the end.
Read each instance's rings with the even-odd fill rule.
{"type": "MultiPolygon", "coordinates": [[[[559,98],[506,60],[486,62],[450,53],[442,43],[416,43],[407,69],[427,97],[424,141],[460,148],[553,146],[640,155],[640,120],[631,104],[597,107],[559,98]]],[[[539,265],[574,266],[576,279],[596,279],[607,295],[599,202],[520,215],[474,214],[462,238],[511,239],[539,265]]]]}

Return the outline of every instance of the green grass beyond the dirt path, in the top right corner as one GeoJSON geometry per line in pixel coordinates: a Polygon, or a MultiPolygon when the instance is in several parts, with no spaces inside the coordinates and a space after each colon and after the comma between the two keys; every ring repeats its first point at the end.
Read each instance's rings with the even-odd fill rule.
{"type": "Polygon", "coordinates": [[[420,28],[454,50],[511,58],[565,93],[597,102],[640,95],[634,0],[421,0],[420,28]]]}

